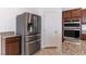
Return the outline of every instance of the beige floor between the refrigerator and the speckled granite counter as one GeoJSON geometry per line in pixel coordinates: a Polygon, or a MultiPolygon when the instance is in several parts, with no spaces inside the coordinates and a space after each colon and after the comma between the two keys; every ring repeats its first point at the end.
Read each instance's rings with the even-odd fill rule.
{"type": "Polygon", "coordinates": [[[62,52],[58,48],[45,48],[36,52],[34,55],[62,55],[62,52]]]}

